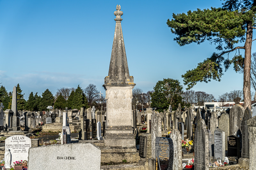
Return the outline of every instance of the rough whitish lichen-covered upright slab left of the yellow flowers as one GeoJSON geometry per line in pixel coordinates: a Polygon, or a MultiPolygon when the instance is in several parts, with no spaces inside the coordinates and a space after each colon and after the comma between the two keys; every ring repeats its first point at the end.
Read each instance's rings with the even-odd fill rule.
{"type": "Polygon", "coordinates": [[[173,129],[170,135],[173,143],[173,165],[172,169],[182,170],[182,147],[180,144],[181,135],[177,129],[173,129]]]}

